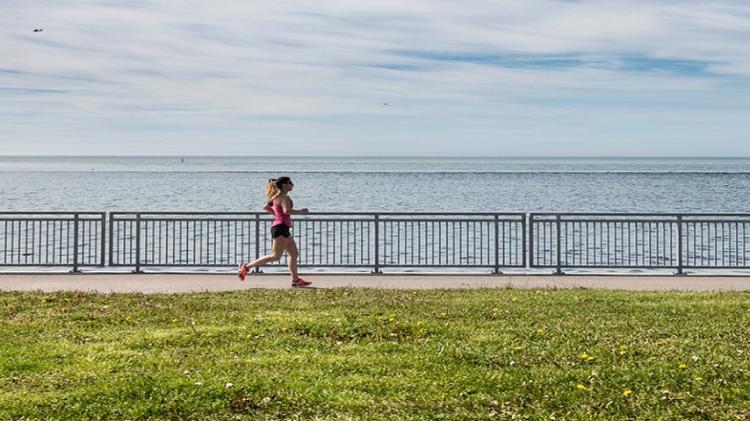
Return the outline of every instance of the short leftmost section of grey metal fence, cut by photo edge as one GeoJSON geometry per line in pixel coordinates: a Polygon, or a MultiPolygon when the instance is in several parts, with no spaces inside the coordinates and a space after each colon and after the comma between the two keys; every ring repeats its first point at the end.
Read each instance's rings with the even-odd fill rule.
{"type": "Polygon", "coordinates": [[[101,212],[0,212],[0,266],[105,265],[101,212]]]}

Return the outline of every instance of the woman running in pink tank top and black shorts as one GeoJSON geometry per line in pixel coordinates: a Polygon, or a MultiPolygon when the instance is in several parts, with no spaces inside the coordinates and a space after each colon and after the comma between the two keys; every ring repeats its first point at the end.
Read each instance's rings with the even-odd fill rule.
{"type": "Polygon", "coordinates": [[[294,242],[290,232],[292,228],[292,215],[307,215],[310,211],[307,208],[294,209],[294,202],[289,197],[289,192],[294,188],[294,183],[289,177],[272,178],[266,185],[266,196],[268,202],[263,209],[274,216],[271,224],[271,237],[273,245],[271,254],[254,260],[250,263],[242,264],[237,268],[240,280],[250,272],[250,269],[263,266],[267,263],[280,260],[281,255],[286,251],[289,255],[289,272],[292,274],[293,287],[306,287],[312,282],[306,281],[299,277],[297,273],[297,243],[294,242]]]}

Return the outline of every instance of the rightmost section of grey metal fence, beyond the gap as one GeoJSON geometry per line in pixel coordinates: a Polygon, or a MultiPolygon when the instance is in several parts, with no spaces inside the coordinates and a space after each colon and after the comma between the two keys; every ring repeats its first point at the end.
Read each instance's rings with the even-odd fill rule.
{"type": "Polygon", "coordinates": [[[745,269],[750,215],[530,214],[530,267],[745,269]]]}

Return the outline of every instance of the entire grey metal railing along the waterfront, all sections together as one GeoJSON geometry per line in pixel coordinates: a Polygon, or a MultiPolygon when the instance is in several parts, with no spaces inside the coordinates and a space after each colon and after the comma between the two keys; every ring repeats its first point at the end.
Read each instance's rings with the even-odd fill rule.
{"type": "MultiPolygon", "coordinates": [[[[0,212],[0,267],[233,267],[270,254],[271,221],[0,212]]],[[[314,213],[293,233],[300,267],[750,269],[750,214],[314,213]]]]}

